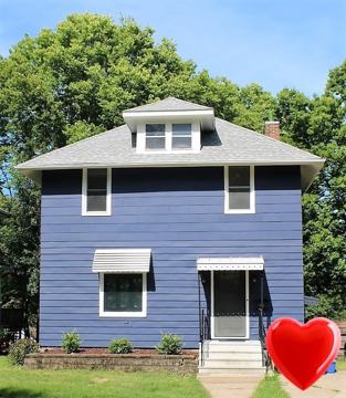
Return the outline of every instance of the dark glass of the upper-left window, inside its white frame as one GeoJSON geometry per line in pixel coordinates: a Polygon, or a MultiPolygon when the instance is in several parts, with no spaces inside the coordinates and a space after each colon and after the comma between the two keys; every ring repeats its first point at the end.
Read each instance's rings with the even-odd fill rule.
{"type": "Polygon", "coordinates": [[[107,169],[87,170],[87,211],[107,210],[107,169]]]}

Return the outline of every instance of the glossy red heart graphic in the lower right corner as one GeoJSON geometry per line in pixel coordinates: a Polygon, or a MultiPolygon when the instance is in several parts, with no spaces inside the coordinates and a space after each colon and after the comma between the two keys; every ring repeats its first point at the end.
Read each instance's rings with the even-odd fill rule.
{"type": "Polygon", "coordinates": [[[322,317],[305,325],[292,318],[279,318],[270,326],[265,342],[277,369],[305,390],[335,359],[340,331],[333,321],[322,317]]]}

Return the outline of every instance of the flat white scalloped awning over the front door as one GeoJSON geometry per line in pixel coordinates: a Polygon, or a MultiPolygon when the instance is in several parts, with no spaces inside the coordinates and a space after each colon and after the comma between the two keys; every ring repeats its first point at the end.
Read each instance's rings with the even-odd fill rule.
{"type": "Polygon", "coordinates": [[[198,271],[262,271],[264,259],[256,258],[199,258],[198,271]]]}

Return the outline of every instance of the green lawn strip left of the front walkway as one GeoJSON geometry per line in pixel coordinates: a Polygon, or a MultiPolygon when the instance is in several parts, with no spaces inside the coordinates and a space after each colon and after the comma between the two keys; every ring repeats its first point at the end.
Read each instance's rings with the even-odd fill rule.
{"type": "Polygon", "coordinates": [[[207,398],[196,376],[112,370],[28,370],[0,357],[1,398],[207,398]]]}

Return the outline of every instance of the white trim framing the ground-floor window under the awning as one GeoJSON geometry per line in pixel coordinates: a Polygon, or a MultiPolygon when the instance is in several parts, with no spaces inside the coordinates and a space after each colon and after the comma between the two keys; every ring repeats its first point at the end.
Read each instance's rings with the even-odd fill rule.
{"type": "MultiPolygon", "coordinates": [[[[147,273],[146,272],[136,272],[134,274],[141,274],[141,312],[120,312],[120,311],[104,311],[104,285],[105,285],[105,273],[109,274],[109,272],[101,272],[99,273],[99,317],[146,317],[147,316],[147,273]]],[[[119,273],[120,275],[120,273],[119,273]]]]}

